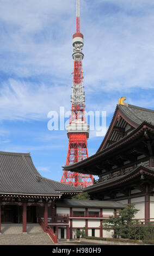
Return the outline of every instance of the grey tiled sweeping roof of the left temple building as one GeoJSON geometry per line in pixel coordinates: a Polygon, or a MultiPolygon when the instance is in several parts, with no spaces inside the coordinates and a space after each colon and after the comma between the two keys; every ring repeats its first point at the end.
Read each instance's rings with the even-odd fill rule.
{"type": "Polygon", "coordinates": [[[46,179],[36,170],[30,154],[0,152],[0,193],[60,196],[81,188],[46,179]]]}

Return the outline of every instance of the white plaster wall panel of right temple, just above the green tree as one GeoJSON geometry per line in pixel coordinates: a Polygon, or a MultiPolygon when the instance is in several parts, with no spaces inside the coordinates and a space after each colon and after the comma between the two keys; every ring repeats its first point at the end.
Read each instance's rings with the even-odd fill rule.
{"type": "Polygon", "coordinates": [[[131,198],[131,203],[135,205],[135,209],[139,211],[134,218],[145,218],[145,197],[131,198]]]}

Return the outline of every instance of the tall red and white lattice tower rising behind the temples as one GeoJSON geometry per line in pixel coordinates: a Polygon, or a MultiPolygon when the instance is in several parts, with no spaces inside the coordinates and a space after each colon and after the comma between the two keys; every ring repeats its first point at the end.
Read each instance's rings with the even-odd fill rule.
{"type": "MultiPolygon", "coordinates": [[[[85,121],[84,102],[85,93],[83,90],[83,34],[79,30],[79,0],[77,0],[76,33],[73,34],[74,71],[71,96],[71,118],[66,126],[67,137],[69,138],[69,149],[67,152],[66,166],[84,160],[88,157],[87,139],[89,138],[89,125],[85,121]]],[[[72,186],[88,187],[93,185],[93,175],[80,174],[64,170],[60,182],[72,184],[72,186]]]]}

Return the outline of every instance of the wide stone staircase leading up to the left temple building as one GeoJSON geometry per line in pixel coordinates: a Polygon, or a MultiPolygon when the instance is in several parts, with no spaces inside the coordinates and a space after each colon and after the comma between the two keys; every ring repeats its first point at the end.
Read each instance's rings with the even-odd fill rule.
{"type": "Polygon", "coordinates": [[[2,224],[1,233],[0,245],[54,245],[38,223],[28,223],[26,234],[22,234],[22,224],[2,224]]]}

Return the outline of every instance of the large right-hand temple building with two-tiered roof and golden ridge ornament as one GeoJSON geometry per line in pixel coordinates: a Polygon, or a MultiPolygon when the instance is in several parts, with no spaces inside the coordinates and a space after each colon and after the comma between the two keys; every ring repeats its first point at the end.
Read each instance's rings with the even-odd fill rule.
{"type": "Polygon", "coordinates": [[[64,169],[97,175],[84,188],[93,200],[135,204],[135,218],[154,220],[154,111],[121,97],[96,154],[64,169]]]}

